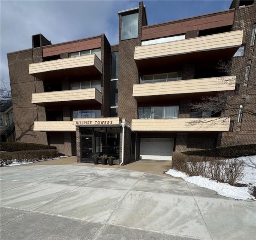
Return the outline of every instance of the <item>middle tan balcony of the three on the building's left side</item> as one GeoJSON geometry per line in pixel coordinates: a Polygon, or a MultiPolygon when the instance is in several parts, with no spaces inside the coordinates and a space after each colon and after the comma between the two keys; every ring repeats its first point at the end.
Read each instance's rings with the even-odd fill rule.
{"type": "Polygon", "coordinates": [[[96,88],[32,93],[32,103],[46,106],[49,103],[102,104],[102,93],[96,88]]]}

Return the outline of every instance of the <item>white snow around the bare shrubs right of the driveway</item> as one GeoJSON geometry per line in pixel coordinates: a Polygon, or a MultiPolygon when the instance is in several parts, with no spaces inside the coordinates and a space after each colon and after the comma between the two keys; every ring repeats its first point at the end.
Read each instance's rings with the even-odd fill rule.
{"type": "Polygon", "coordinates": [[[240,157],[244,160],[244,178],[239,182],[246,184],[246,187],[235,187],[228,183],[220,183],[202,176],[190,177],[184,172],[170,169],[166,172],[174,177],[183,178],[186,182],[193,183],[197,186],[208,188],[217,192],[217,194],[234,199],[254,199],[251,195],[253,186],[256,186],[256,156],[240,157]]]}

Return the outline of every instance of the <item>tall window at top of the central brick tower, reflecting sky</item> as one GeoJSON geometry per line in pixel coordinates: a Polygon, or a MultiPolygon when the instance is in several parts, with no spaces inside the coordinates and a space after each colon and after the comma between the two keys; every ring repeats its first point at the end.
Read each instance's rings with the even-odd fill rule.
{"type": "Polygon", "coordinates": [[[138,20],[138,13],[122,16],[121,40],[138,37],[138,20]]]}

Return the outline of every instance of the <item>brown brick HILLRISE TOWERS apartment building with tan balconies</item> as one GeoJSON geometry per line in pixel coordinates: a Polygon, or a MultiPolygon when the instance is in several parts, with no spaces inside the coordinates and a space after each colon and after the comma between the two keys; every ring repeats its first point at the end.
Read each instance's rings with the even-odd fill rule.
{"type": "Polygon", "coordinates": [[[143,2],[118,16],[117,45],[104,34],[60,44],[38,34],[32,48],[8,54],[17,141],[56,146],[78,162],[108,154],[120,164],[256,143],[256,118],[243,113],[256,112],[254,1],[154,25],[143,2]],[[217,70],[220,60],[232,60],[231,72],[217,70]],[[222,92],[233,93],[234,109],[191,111],[222,92]]]}

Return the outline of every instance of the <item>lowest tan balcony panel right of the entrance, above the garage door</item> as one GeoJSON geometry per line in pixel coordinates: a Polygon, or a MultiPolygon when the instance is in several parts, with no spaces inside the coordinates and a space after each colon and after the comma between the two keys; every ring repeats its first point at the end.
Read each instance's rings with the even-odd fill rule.
{"type": "Polygon", "coordinates": [[[224,132],[230,118],[132,119],[132,131],[224,132]]]}

